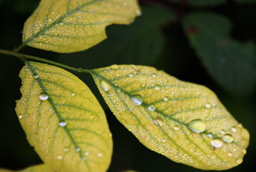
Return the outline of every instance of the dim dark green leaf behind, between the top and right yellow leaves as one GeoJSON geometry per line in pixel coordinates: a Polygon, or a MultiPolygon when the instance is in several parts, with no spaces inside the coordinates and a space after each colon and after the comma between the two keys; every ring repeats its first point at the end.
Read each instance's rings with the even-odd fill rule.
{"type": "Polygon", "coordinates": [[[87,65],[88,68],[113,63],[152,64],[163,51],[164,36],[161,26],[170,20],[175,20],[175,17],[165,8],[144,7],[142,12],[143,15],[131,26],[108,27],[109,38],[104,42],[87,51],[61,54],[59,61],[71,66],[84,64],[84,67],[87,65]],[[79,58],[81,56],[93,58],[79,58]]]}

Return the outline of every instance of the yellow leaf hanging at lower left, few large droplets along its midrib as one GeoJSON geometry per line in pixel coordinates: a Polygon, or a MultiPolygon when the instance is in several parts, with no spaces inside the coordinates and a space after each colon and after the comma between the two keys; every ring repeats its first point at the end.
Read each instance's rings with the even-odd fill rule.
{"type": "Polygon", "coordinates": [[[90,89],[56,66],[28,61],[15,109],[29,143],[58,172],[106,171],[112,139],[90,89]]]}

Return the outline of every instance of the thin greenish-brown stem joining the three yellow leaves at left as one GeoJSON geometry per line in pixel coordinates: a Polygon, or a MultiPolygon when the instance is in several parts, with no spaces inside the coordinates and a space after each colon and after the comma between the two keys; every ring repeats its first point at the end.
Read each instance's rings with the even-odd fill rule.
{"type": "Polygon", "coordinates": [[[89,69],[74,68],[72,66],[63,65],[61,63],[57,63],[55,61],[51,61],[49,59],[38,58],[36,56],[30,56],[28,54],[21,54],[21,53],[17,52],[16,50],[15,51],[8,51],[8,50],[0,49],[0,54],[6,54],[6,55],[9,55],[9,56],[15,56],[15,57],[19,58],[23,62],[25,62],[27,59],[31,59],[31,60],[34,60],[34,61],[40,61],[40,62],[51,64],[51,65],[54,65],[54,66],[59,66],[61,68],[66,68],[66,69],[72,70],[74,72],[81,72],[81,73],[87,73],[87,74],[90,74],[90,72],[91,72],[91,70],[89,70],[89,69]]]}

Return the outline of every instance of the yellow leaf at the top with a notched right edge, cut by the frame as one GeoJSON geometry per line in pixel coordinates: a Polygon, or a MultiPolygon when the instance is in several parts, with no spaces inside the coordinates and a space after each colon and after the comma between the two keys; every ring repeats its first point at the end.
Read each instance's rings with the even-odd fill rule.
{"type": "Polygon", "coordinates": [[[22,40],[47,51],[83,51],[107,37],[106,26],[130,24],[136,15],[137,0],[41,0],[22,40]]]}

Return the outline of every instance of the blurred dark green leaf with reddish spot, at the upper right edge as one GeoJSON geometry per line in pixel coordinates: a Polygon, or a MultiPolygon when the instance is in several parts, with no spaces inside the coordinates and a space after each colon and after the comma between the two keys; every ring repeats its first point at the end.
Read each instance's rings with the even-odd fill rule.
{"type": "Polygon", "coordinates": [[[184,18],[183,26],[198,58],[223,88],[237,95],[250,95],[255,90],[255,45],[230,38],[231,24],[227,18],[214,13],[192,13],[184,18]]]}

